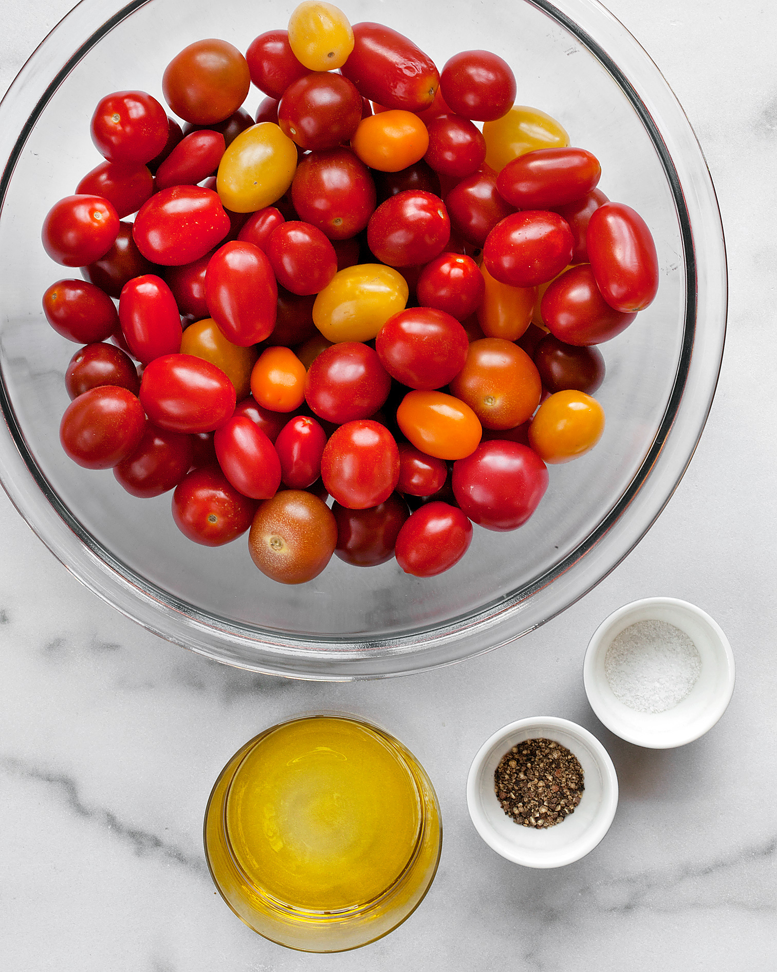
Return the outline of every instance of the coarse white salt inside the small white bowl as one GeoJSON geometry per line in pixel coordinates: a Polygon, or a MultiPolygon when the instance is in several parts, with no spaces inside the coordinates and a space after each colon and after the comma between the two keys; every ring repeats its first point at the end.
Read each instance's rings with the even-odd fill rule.
{"type": "Polygon", "coordinates": [[[666,621],[637,621],[613,640],[604,673],[617,699],[637,712],[666,712],[691,692],[701,656],[688,635],[666,621]]]}

